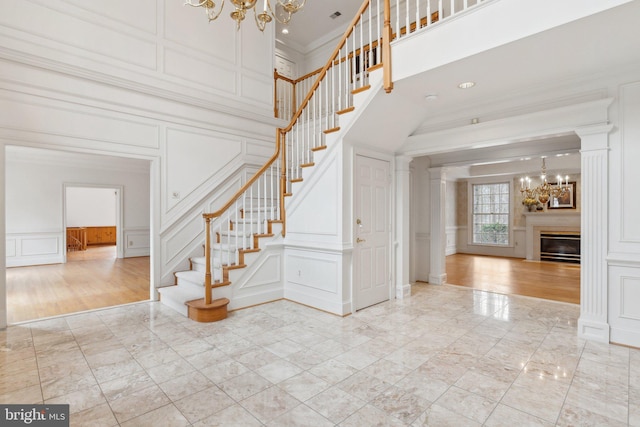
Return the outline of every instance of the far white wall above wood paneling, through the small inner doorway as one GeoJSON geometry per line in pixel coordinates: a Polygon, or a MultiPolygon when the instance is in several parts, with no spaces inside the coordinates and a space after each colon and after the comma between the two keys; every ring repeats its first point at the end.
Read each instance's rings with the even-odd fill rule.
{"type": "Polygon", "coordinates": [[[65,200],[67,227],[100,227],[116,224],[117,192],[115,188],[67,187],[65,200]]]}

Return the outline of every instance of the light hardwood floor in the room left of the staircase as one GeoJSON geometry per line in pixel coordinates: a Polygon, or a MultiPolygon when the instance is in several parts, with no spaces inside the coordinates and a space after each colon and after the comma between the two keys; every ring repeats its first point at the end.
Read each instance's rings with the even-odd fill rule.
{"type": "Polygon", "coordinates": [[[9,323],[149,299],[149,257],[116,258],[115,246],[68,252],[66,264],[7,269],[9,323]]]}

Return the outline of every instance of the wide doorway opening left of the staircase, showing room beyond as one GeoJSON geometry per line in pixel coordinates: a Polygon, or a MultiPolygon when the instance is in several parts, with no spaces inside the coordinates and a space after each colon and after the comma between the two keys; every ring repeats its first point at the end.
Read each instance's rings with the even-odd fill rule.
{"type": "Polygon", "coordinates": [[[7,146],[5,174],[8,324],[149,300],[150,161],[7,146]]]}

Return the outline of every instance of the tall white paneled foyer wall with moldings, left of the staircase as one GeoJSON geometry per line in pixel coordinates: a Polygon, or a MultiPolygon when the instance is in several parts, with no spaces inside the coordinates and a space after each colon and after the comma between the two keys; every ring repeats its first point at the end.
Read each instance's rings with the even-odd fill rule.
{"type": "MultiPolygon", "coordinates": [[[[226,14],[208,24],[201,10],[168,0],[0,3],[0,150],[28,146],[149,162],[144,186],[151,196],[125,192],[134,212],[125,227],[142,227],[137,213],[147,220],[147,242],[143,234],[131,237],[150,247],[154,287],[171,284],[175,268],[201,252],[202,212],[224,204],[248,167],[273,153],[273,26],[263,34],[245,24],[236,31],[226,14]]],[[[39,218],[38,230],[52,233],[48,256],[59,257],[62,213],[45,202],[62,186],[34,166],[2,164],[3,176],[37,187],[39,197],[2,186],[0,223],[5,191],[7,207],[52,212],[39,218]]],[[[25,230],[26,219],[33,222],[8,211],[7,232],[25,230]]],[[[18,253],[9,240],[6,250],[7,257],[18,253]]],[[[4,298],[0,275],[0,309],[4,298]]],[[[0,313],[0,327],[5,319],[0,313]]]]}

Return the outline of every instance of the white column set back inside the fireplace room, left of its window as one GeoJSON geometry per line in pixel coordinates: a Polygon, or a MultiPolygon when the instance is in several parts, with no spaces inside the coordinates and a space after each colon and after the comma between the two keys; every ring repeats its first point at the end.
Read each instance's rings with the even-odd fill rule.
{"type": "Polygon", "coordinates": [[[442,285],[447,281],[446,267],[446,219],[445,203],[447,195],[447,181],[445,168],[429,169],[431,182],[431,230],[430,230],[430,271],[429,283],[442,285]]]}

